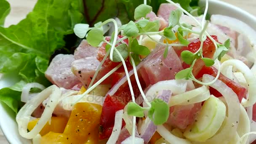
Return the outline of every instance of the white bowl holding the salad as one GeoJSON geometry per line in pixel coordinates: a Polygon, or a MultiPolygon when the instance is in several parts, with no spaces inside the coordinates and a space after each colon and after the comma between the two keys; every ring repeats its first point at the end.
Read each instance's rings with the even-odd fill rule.
{"type": "MultiPolygon", "coordinates": [[[[204,5],[205,0],[201,0],[200,6],[204,7],[204,5]]],[[[240,19],[256,30],[256,17],[240,8],[235,7],[234,5],[230,5],[219,0],[209,0],[209,13],[222,14],[240,19]]],[[[14,82],[15,80],[13,78],[2,77],[0,80],[0,88],[10,86],[14,82]]],[[[7,140],[11,144],[31,143],[31,140],[24,139],[19,135],[14,113],[2,102],[0,102],[0,126],[7,140]]]]}

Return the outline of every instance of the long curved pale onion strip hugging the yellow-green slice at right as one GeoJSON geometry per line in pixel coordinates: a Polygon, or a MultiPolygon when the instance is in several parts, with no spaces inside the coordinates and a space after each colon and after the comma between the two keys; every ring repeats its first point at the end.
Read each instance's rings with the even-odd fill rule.
{"type": "MultiPolygon", "coordinates": [[[[211,82],[214,78],[215,77],[211,75],[205,74],[203,75],[203,82],[211,82]]],[[[216,89],[222,94],[222,96],[224,96],[227,102],[228,118],[221,131],[219,131],[219,133],[214,135],[211,139],[205,141],[205,144],[223,144],[227,141],[231,141],[232,137],[235,136],[237,123],[239,123],[240,103],[236,93],[221,80],[216,80],[215,83],[209,86],[216,89]]]]}

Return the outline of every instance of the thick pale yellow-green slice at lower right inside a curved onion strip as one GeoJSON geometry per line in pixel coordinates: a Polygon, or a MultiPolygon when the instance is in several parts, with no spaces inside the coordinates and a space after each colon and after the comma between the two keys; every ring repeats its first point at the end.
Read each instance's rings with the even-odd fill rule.
{"type": "Polygon", "coordinates": [[[205,142],[219,130],[225,116],[225,104],[211,96],[203,104],[196,122],[186,129],[184,136],[191,141],[205,142]]]}

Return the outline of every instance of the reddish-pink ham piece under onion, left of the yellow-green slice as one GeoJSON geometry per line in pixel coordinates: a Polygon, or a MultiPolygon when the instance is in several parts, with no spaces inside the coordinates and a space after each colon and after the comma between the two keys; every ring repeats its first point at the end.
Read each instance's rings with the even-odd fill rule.
{"type": "Polygon", "coordinates": [[[175,128],[184,129],[195,122],[195,118],[201,107],[201,102],[170,107],[170,115],[166,123],[175,128]]]}

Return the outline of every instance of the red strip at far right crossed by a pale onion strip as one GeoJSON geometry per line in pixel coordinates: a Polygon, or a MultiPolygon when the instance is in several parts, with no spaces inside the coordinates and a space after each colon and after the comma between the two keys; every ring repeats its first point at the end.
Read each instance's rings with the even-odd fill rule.
{"type": "MultiPolygon", "coordinates": [[[[204,74],[212,75],[213,77],[216,77],[218,73],[218,69],[215,67],[206,67],[204,66],[202,70],[199,72],[199,74],[196,76],[196,78],[203,77],[204,74]]],[[[245,97],[247,93],[247,89],[239,85],[238,83],[235,83],[233,80],[230,80],[229,78],[225,77],[224,75],[219,75],[219,80],[221,80],[223,83],[225,83],[229,88],[231,88],[238,96],[239,101],[241,102],[243,97],[245,97]]],[[[222,96],[221,93],[216,91],[213,88],[210,88],[210,93],[213,94],[216,97],[222,96]]]]}

